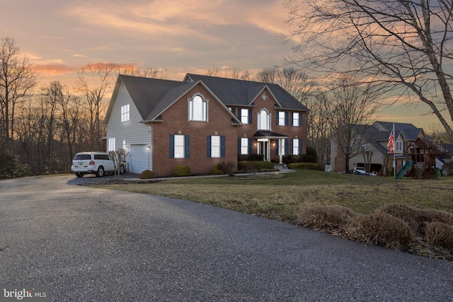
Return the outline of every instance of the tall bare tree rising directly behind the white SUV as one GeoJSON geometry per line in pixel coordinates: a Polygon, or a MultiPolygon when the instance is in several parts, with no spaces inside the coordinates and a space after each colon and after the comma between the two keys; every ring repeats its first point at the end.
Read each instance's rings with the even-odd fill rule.
{"type": "Polygon", "coordinates": [[[104,97],[113,83],[114,70],[115,66],[108,64],[88,64],[79,72],[79,79],[74,86],[74,91],[86,101],[83,106],[89,115],[88,135],[91,150],[102,147],[100,139],[103,137],[104,130],[101,127],[105,109],[108,106],[104,97]]]}

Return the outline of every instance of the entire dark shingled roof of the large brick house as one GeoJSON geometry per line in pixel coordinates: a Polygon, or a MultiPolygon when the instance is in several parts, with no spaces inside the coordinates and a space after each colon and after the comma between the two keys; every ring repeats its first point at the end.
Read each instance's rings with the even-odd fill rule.
{"type": "Polygon", "coordinates": [[[199,76],[196,74],[187,74],[185,81],[150,79],[120,74],[110,99],[105,123],[108,122],[110,113],[113,110],[112,100],[116,99],[122,84],[130,94],[143,122],[159,121],[162,112],[198,84],[210,91],[215,100],[221,103],[224,109],[229,112],[233,124],[241,124],[241,122],[228,110],[227,106],[251,107],[253,106],[253,100],[266,88],[276,100],[275,107],[282,110],[308,111],[302,103],[275,84],[199,76]]]}

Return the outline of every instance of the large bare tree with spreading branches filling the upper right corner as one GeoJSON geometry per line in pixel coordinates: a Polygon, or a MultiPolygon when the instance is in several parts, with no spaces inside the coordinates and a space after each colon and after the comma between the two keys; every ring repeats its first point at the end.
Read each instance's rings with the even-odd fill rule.
{"type": "Polygon", "coordinates": [[[299,44],[292,58],[313,71],[381,83],[396,100],[420,100],[450,137],[453,1],[286,0],[299,44]]]}

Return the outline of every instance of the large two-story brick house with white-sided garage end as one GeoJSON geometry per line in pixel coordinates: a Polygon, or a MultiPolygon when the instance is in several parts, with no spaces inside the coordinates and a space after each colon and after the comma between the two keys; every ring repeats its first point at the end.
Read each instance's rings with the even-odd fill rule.
{"type": "Polygon", "coordinates": [[[108,151],[126,149],[127,168],[193,174],[258,153],[281,162],[306,150],[308,109],[280,86],[187,74],[184,81],[120,75],[105,117],[108,151]]]}

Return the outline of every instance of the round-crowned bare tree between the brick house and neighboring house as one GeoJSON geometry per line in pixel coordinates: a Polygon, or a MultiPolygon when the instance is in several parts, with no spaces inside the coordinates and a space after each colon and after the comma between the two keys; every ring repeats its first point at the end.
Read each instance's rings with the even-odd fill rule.
{"type": "Polygon", "coordinates": [[[350,76],[340,76],[333,83],[331,101],[326,103],[333,132],[333,141],[345,157],[345,171],[350,158],[360,153],[367,125],[377,117],[379,86],[358,83],[350,76]]]}

